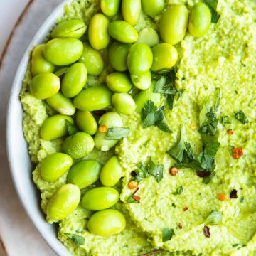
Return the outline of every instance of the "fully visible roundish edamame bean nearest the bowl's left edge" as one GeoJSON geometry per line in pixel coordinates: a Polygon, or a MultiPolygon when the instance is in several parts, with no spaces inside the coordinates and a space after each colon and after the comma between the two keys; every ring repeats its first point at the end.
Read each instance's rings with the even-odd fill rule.
{"type": "Polygon", "coordinates": [[[60,90],[60,78],[53,73],[36,75],[30,84],[31,95],[40,100],[55,95],[58,90],[60,90]]]}

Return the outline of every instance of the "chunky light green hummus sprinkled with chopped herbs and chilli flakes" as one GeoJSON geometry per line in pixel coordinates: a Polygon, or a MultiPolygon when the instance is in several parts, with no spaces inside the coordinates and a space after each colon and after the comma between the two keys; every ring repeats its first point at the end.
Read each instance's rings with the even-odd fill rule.
{"type": "MultiPolygon", "coordinates": [[[[167,2],[186,2],[189,9],[198,1],[167,2]]],[[[80,18],[88,24],[99,10],[97,0],[73,1],[65,6],[65,15],[60,21],[80,18]]],[[[109,237],[92,235],[87,230],[87,220],[92,212],[78,206],[60,221],[58,230],[58,238],[73,255],[136,256],[161,249],[161,255],[255,255],[256,2],[219,0],[217,11],[220,19],[217,24],[211,24],[205,36],[194,38],[187,33],[178,47],[180,60],[176,87],[184,92],[174,103],[173,110],[166,108],[165,111],[166,123],[172,133],[162,132],[154,126],[143,129],[140,114],[122,114],[124,127],[130,127],[132,132],[115,149],[124,167],[124,178],[117,186],[122,191],[122,202],[114,207],[124,213],[127,227],[122,233],[109,237]],[[229,116],[232,119],[225,126],[218,124],[220,147],[215,156],[216,176],[208,184],[202,183],[202,178],[188,168],[180,169],[178,175],[171,176],[169,168],[176,161],[166,151],[176,144],[181,125],[185,126],[188,142],[191,142],[196,156],[202,150],[198,115],[204,100],[214,92],[215,87],[222,92],[220,117],[229,116]],[[240,110],[250,120],[248,124],[235,119],[235,112],[240,110]],[[233,134],[228,134],[227,129],[232,129],[233,134]],[[244,155],[234,159],[233,148],[239,146],[242,146],[244,155]],[[154,176],[144,178],[137,192],[137,196],[142,198],[140,203],[127,203],[127,197],[131,195],[127,183],[131,180],[134,163],[145,163],[149,158],[156,164],[164,165],[163,179],[157,183],[154,176]],[[183,193],[175,195],[174,191],[179,186],[183,187],[183,193]],[[238,198],[231,199],[229,195],[234,189],[238,198]],[[227,195],[227,200],[220,201],[219,193],[227,195]],[[210,238],[206,238],[204,221],[212,210],[220,211],[223,220],[219,225],[208,225],[210,238]],[[162,242],[164,228],[174,228],[175,232],[173,238],[166,242],[162,242]],[[67,234],[85,238],[84,245],[77,245],[67,234]]],[[[142,14],[135,28],[140,31],[149,26],[155,25],[142,14]]],[[[33,180],[41,190],[41,208],[46,213],[48,198],[66,183],[66,174],[55,183],[43,181],[40,162],[48,154],[60,150],[62,139],[48,142],[39,136],[43,121],[53,114],[53,110],[28,92],[31,81],[29,70],[28,67],[21,91],[23,131],[31,160],[39,163],[33,171],[33,180]]],[[[111,71],[107,67],[99,77],[90,76],[87,86],[101,84],[111,71]]],[[[86,158],[105,164],[113,154],[114,151],[94,149],[86,158]]]]}

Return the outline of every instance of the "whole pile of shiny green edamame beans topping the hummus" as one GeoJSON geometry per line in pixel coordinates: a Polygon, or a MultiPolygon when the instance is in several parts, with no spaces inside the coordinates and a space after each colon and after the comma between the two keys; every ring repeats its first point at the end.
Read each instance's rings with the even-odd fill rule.
{"type": "Polygon", "coordinates": [[[203,3],[195,4],[190,14],[183,4],[165,9],[164,0],[101,0],[100,7],[102,13],[90,21],[88,41],[80,40],[87,30],[85,23],[70,20],[53,29],[48,43],[33,49],[30,92],[58,112],[43,122],[41,138],[49,141],[66,137],[62,152],[40,163],[41,178],[49,183],[68,171],[67,184],[48,201],[48,220],[62,220],[81,203],[86,210],[95,211],[87,223],[88,230],[105,236],[125,228],[124,215],[110,209],[119,201],[119,192],[113,186],[122,177],[122,167],[117,156],[103,167],[91,159],[74,165],[73,160],[87,156],[94,147],[107,151],[117,144],[118,140],[105,137],[107,129],[123,127],[119,112],[141,112],[154,91],[151,74],[174,67],[178,60],[174,45],[181,42],[187,29],[192,36],[203,36],[210,27],[211,13],[203,3]],[[110,19],[119,11],[123,20],[110,19]],[[144,28],[137,32],[134,26],[142,11],[156,20],[159,31],[144,28]],[[87,75],[100,75],[105,67],[102,50],[107,50],[114,72],[107,75],[105,84],[85,88],[87,75]],[[103,114],[98,124],[93,112],[111,105],[114,111],[103,114]],[[78,132],[68,136],[67,122],[78,127],[78,132]],[[99,178],[102,186],[80,198],[80,190],[99,178]]]}

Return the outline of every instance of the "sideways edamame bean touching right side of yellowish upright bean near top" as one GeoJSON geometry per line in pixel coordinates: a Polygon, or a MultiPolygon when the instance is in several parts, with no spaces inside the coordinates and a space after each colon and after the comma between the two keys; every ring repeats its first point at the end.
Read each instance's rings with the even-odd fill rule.
{"type": "Polygon", "coordinates": [[[108,31],[112,38],[122,43],[134,43],[138,39],[138,32],[126,21],[111,22],[108,31]]]}

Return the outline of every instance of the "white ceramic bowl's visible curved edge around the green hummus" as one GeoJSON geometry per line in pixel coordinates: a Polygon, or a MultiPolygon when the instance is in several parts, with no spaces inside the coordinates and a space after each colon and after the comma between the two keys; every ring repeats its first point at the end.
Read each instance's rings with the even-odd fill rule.
{"type": "Polygon", "coordinates": [[[18,65],[18,70],[12,85],[6,119],[7,153],[11,176],[13,178],[18,197],[20,198],[23,208],[26,210],[26,213],[31,218],[33,224],[36,226],[39,233],[41,233],[43,239],[46,240],[48,245],[57,255],[61,256],[68,256],[70,253],[57,238],[57,226],[50,225],[46,222],[45,215],[43,215],[40,208],[40,193],[32,180],[33,166],[30,161],[30,156],[28,155],[28,146],[23,137],[23,109],[19,93],[22,87],[22,80],[27,70],[31,50],[34,46],[44,41],[50,31],[50,28],[53,28],[57,18],[63,16],[63,6],[71,1],[72,0],[63,1],[63,3],[60,4],[53,13],[50,14],[50,16],[48,16],[26,49],[21,63],[18,65]]]}

